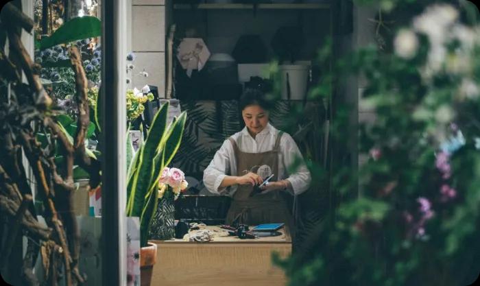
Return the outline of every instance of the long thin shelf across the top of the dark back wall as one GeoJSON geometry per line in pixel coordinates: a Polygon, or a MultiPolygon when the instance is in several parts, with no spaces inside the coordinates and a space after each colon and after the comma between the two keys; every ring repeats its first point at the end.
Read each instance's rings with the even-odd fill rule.
{"type": "MultiPolygon", "coordinates": [[[[202,3],[196,5],[189,4],[175,4],[173,9],[204,9],[204,10],[218,10],[218,9],[253,9],[253,4],[238,4],[238,3],[202,3]]],[[[277,9],[277,10],[322,10],[330,9],[330,3],[264,3],[257,4],[257,9],[277,9]]]]}

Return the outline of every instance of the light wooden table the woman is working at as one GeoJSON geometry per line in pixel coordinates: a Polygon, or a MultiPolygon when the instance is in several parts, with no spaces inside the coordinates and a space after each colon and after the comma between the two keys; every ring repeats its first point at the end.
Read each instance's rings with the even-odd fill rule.
{"type": "MultiPolygon", "coordinates": [[[[217,226],[207,226],[219,230],[217,226]]],[[[280,257],[291,253],[287,232],[277,237],[239,239],[215,237],[208,242],[182,239],[152,241],[157,243],[157,262],[152,286],[285,285],[283,270],[272,265],[272,252],[280,257]]]]}

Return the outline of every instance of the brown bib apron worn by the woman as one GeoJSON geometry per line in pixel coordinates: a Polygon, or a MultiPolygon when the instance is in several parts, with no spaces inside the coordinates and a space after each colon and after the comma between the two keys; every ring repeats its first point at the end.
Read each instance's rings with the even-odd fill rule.
{"type": "MultiPolygon", "coordinates": [[[[267,165],[274,177],[270,182],[278,180],[278,153],[280,152],[280,138],[283,132],[277,133],[274,149],[261,153],[241,152],[237,143],[229,138],[237,159],[237,176],[243,176],[249,171],[257,173],[267,165]]],[[[241,142],[239,141],[239,145],[241,142]]],[[[268,175],[267,175],[268,176],[268,175]]],[[[265,179],[266,176],[262,176],[265,179]]],[[[293,230],[293,219],[287,202],[283,198],[283,191],[270,191],[250,196],[252,185],[238,185],[233,195],[232,204],[228,210],[226,224],[238,223],[254,226],[266,223],[285,223],[289,230],[293,230]]],[[[285,194],[288,195],[288,194],[285,194]]],[[[293,231],[290,231],[293,233],[293,231]]]]}

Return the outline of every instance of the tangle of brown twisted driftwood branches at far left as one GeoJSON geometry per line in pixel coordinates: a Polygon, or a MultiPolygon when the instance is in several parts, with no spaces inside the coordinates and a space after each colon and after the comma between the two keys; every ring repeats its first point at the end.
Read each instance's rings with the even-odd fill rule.
{"type": "Polygon", "coordinates": [[[73,212],[73,161],[88,171],[91,188],[100,182],[100,165],[86,154],[84,146],[89,109],[80,53],[75,47],[69,50],[75,74],[75,100],[79,108],[77,131],[72,138],[54,116],[57,109],[40,81],[41,67],[32,62],[21,43],[21,28],[32,31],[32,19],[10,2],[2,9],[1,23],[5,30],[0,30],[0,34],[8,36],[12,56],[7,57],[4,47],[0,47],[0,210],[9,223],[1,239],[4,241],[1,246],[2,276],[10,274],[21,285],[38,285],[33,269],[40,253],[48,285],[57,285],[61,276],[69,286],[82,284],[85,277],[78,270],[80,233],[73,212]],[[27,84],[22,81],[22,72],[27,84]],[[5,88],[8,84],[10,93],[5,88]],[[45,148],[37,141],[39,132],[48,134],[49,144],[45,148]],[[56,150],[60,150],[64,157],[60,166],[55,163],[56,150]],[[22,153],[32,168],[37,195],[45,208],[41,215],[47,228],[36,220],[33,190],[22,153]],[[29,238],[23,265],[12,265],[10,255],[22,252],[13,248],[14,241],[21,241],[23,235],[29,238]]]}

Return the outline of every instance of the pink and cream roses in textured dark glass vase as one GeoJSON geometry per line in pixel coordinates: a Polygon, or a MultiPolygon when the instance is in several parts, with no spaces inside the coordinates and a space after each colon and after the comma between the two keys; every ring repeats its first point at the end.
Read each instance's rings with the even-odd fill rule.
{"type": "Polygon", "coordinates": [[[158,180],[158,206],[149,236],[151,239],[172,239],[175,237],[174,200],[187,189],[188,183],[182,170],[165,167],[158,180]]]}

